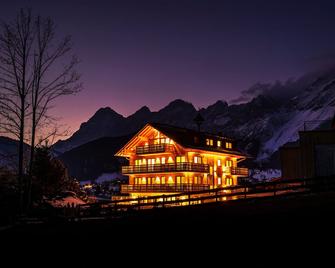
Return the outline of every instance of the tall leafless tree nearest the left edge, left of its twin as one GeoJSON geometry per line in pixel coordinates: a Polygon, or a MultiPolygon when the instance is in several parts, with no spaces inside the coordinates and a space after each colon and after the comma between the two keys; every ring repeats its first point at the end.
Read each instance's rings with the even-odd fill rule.
{"type": "Polygon", "coordinates": [[[31,12],[21,10],[12,23],[2,22],[0,26],[0,127],[19,139],[18,182],[22,199],[25,120],[33,82],[29,69],[34,43],[31,12]]]}

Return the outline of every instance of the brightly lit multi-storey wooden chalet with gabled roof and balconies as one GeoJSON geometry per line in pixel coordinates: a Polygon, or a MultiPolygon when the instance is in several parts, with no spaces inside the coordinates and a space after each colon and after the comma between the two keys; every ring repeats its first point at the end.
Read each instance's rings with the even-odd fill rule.
{"type": "Polygon", "coordinates": [[[201,191],[237,184],[248,169],[233,140],[204,132],[150,123],[116,156],[126,157],[122,173],[129,184],[121,193],[132,197],[201,191]]]}

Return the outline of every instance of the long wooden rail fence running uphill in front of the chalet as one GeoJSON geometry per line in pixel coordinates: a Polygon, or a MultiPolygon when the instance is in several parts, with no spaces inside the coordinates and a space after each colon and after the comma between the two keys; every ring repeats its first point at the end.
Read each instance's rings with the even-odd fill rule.
{"type": "Polygon", "coordinates": [[[288,196],[335,190],[334,177],[313,179],[280,180],[256,184],[245,184],[197,192],[184,192],[141,198],[120,197],[119,200],[90,203],[76,208],[76,217],[122,216],[129,211],[192,206],[229,200],[257,199],[273,196],[288,196]]]}

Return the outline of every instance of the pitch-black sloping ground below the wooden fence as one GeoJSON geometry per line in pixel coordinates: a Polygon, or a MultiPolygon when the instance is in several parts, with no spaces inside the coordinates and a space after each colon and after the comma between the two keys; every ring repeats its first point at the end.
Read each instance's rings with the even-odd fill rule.
{"type": "Polygon", "coordinates": [[[18,225],[0,235],[7,249],[80,260],[109,256],[111,262],[142,263],[164,256],[170,262],[179,256],[274,267],[294,258],[328,267],[321,264],[335,256],[334,216],[335,193],[330,192],[146,210],[118,219],[18,225]]]}

